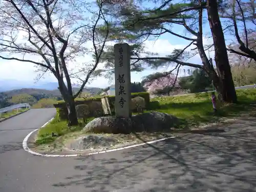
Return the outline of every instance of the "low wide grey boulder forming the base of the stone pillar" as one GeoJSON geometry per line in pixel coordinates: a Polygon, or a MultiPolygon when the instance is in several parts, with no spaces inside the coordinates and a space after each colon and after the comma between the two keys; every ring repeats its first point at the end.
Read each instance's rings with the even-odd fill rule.
{"type": "Polygon", "coordinates": [[[179,119],[167,113],[149,112],[131,118],[98,117],[83,131],[91,133],[130,134],[132,132],[168,131],[178,125],[179,119]]]}

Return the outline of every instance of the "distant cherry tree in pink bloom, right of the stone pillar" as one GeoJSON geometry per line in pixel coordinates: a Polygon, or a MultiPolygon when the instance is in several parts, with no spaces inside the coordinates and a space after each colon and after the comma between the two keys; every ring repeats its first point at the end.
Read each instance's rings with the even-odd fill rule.
{"type": "Polygon", "coordinates": [[[170,92],[179,88],[179,81],[177,75],[172,73],[154,73],[144,77],[142,80],[143,87],[150,93],[159,94],[170,92]]]}

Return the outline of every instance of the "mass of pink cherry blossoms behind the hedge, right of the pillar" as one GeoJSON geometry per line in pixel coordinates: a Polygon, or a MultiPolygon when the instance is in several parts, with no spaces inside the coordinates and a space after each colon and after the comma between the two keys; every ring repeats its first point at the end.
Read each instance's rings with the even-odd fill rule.
{"type": "Polygon", "coordinates": [[[152,81],[146,82],[144,84],[144,88],[147,89],[148,92],[156,93],[158,90],[164,90],[164,89],[170,89],[173,87],[178,88],[179,87],[179,81],[178,78],[175,82],[176,76],[173,74],[169,74],[164,77],[159,77],[157,79],[154,79],[152,81]]]}

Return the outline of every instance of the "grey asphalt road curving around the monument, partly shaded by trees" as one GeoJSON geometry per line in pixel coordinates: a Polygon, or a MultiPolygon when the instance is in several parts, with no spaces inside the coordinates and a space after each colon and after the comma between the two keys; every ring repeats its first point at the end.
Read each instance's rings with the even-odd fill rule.
{"type": "Polygon", "coordinates": [[[0,123],[1,192],[256,191],[256,121],[229,123],[225,133],[186,134],[89,157],[33,156],[24,137],[54,115],[30,110],[0,123]]]}

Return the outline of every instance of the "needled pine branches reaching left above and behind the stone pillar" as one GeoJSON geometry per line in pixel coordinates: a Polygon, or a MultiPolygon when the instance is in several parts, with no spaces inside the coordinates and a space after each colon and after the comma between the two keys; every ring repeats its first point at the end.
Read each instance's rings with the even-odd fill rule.
{"type": "MultiPolygon", "coordinates": [[[[144,50],[143,41],[150,38],[157,37],[161,34],[173,34],[172,31],[168,29],[168,26],[165,24],[180,24],[184,23],[184,19],[180,16],[179,19],[175,19],[175,15],[181,14],[185,11],[191,11],[195,8],[190,8],[190,4],[181,4],[181,5],[169,5],[170,1],[166,3],[166,10],[162,10],[165,6],[162,6],[158,12],[155,9],[150,10],[141,10],[138,9],[133,3],[115,3],[111,6],[108,6],[109,15],[114,17],[114,22],[111,23],[110,30],[110,39],[115,42],[126,41],[131,44],[131,59],[134,62],[131,63],[132,71],[142,71],[147,67],[158,68],[163,66],[168,66],[172,62],[177,62],[178,65],[182,66],[191,66],[196,68],[202,68],[201,65],[196,65],[194,63],[184,62],[187,56],[189,56],[186,49],[189,48],[196,41],[195,38],[189,38],[177,34],[180,38],[184,38],[190,41],[190,44],[182,50],[175,49],[170,55],[166,57],[159,57],[156,53],[148,52],[144,50]],[[169,5],[169,7],[168,7],[169,5]],[[183,10],[184,7],[184,10],[183,10]],[[181,10],[180,10],[181,9],[181,10]],[[144,16],[145,15],[145,16],[144,16]],[[156,17],[156,15],[159,15],[156,17]],[[145,17],[145,18],[144,18],[145,17]],[[147,18],[148,17],[148,18],[147,18]],[[164,28],[165,27],[165,28],[164,28]],[[142,43],[141,43],[142,41],[142,43]],[[143,56],[142,56],[143,55],[143,56]]],[[[194,5],[194,4],[193,4],[194,5]]],[[[191,5],[191,6],[193,6],[191,5]]],[[[188,16],[188,19],[191,18],[188,16]]],[[[186,24],[184,24],[186,25],[186,24]]],[[[104,27],[103,27],[104,28],[104,27]]],[[[103,32],[103,30],[102,30],[103,32]]],[[[174,33],[176,34],[176,33],[174,33]]],[[[109,73],[113,73],[114,69],[114,52],[113,46],[109,46],[106,52],[102,55],[102,61],[106,61],[105,68],[109,73]],[[112,69],[111,69],[112,68],[112,69]]],[[[177,69],[177,66],[175,69],[177,69]]],[[[169,72],[172,73],[172,72],[169,72]]]]}

